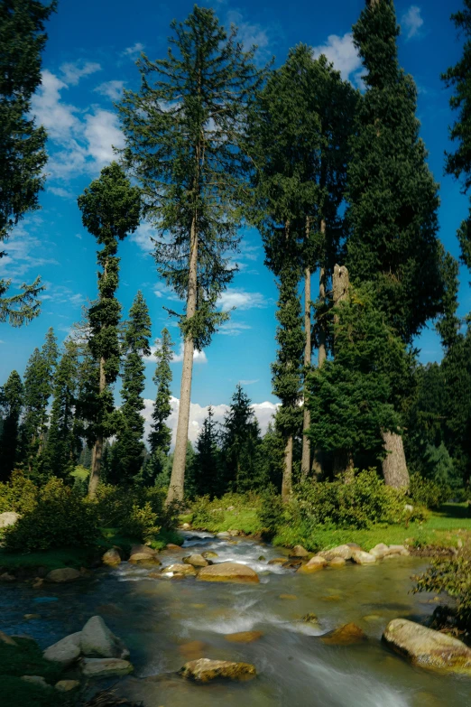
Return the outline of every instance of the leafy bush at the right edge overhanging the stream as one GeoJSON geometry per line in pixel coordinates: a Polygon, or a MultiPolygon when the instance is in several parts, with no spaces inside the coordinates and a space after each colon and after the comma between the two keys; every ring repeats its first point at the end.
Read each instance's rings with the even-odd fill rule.
{"type": "Polygon", "coordinates": [[[433,560],[426,572],[414,579],[417,585],[412,590],[445,591],[457,601],[455,616],[460,628],[471,630],[471,559],[466,557],[439,558],[433,560]]]}

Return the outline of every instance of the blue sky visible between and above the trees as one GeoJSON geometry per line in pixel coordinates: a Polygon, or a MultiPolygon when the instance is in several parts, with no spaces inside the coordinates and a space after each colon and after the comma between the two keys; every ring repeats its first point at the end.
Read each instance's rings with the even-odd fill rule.
{"type": "MultiPolygon", "coordinates": [[[[297,42],[324,51],[344,77],[357,84],[361,65],[351,42],[351,26],[364,0],[332,0],[329,3],[274,0],[270,4],[240,0],[215,2],[223,23],[235,22],[243,41],[260,47],[261,60],[275,56],[281,64],[297,42]]],[[[429,164],[441,184],[440,237],[458,256],[457,227],[465,217],[467,200],[459,185],[443,176],[443,154],[449,149],[448,91],[439,74],[460,56],[449,14],[460,0],[421,0],[396,3],[402,24],[400,59],[420,90],[418,116],[421,135],[429,149],[429,164]]],[[[47,285],[41,316],[28,327],[14,330],[0,326],[0,385],[10,371],[21,374],[35,346],[40,346],[48,327],[63,340],[81,307],[97,294],[96,245],[82,227],[77,196],[99,170],[113,158],[112,144],[120,146],[113,100],[125,88],[138,88],[134,60],[142,49],[151,59],[162,57],[171,19],[183,20],[192,3],[176,0],[171,5],[140,0],[60,0],[58,13],[49,23],[49,42],[44,54],[42,87],[33,110],[50,135],[50,162],[42,210],[16,229],[7,243],[9,256],[0,260],[0,277],[14,284],[31,282],[41,274],[47,285]]],[[[169,324],[162,305],[168,293],[159,281],[150,250],[150,228],[145,224],[120,246],[122,257],[119,298],[127,312],[138,289],[143,291],[152,315],[152,337],[169,324]]],[[[231,321],[204,355],[195,361],[192,400],[197,408],[228,403],[237,381],[246,386],[253,401],[274,404],[270,363],[275,355],[274,303],[276,286],[263,265],[263,249],[252,229],[242,233],[240,272],[221,308],[236,306],[231,321]]],[[[461,274],[460,312],[471,310],[466,271],[461,274]]],[[[174,338],[178,330],[173,328],[174,338]]],[[[441,349],[432,328],[418,341],[423,361],[439,360],[441,349]]],[[[177,345],[177,349],[179,346],[177,345]]],[[[145,395],[152,398],[152,363],[147,366],[145,395]]],[[[179,396],[180,363],[173,364],[173,395],[179,396]]],[[[266,414],[272,405],[265,406],[266,414]]],[[[263,415],[262,415],[263,417],[263,415]]],[[[198,425],[199,427],[199,425],[198,425]]]]}

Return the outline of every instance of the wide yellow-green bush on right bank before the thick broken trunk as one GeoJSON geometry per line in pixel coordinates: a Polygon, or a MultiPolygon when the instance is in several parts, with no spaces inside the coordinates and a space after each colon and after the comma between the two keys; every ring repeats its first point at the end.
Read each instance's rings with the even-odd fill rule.
{"type": "Polygon", "coordinates": [[[304,483],[290,504],[293,519],[303,524],[358,529],[401,523],[407,516],[404,506],[403,491],[386,486],[376,470],[361,471],[350,484],[304,483]]]}

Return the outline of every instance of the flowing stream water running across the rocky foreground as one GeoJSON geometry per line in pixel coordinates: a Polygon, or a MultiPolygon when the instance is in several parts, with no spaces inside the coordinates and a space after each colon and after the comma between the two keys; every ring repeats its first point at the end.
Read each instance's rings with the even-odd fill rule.
{"type": "MultiPolygon", "coordinates": [[[[214,562],[248,564],[261,583],[152,579],[152,568],[122,563],[95,572],[89,581],[41,591],[2,587],[0,628],[28,634],[46,647],[100,614],[131,651],[134,676],[124,678],[119,689],[145,707],[471,705],[471,679],[414,668],[381,643],[389,620],[421,621],[435,608],[429,595],[409,593],[411,575],[425,561],[347,563],[301,575],[267,564],[280,556],[279,549],[195,535],[187,534],[185,541],[191,552],[213,550],[214,562]],[[25,621],[25,613],[41,619],[25,621]],[[300,620],[307,613],[318,616],[318,628],[300,620]],[[338,647],[319,639],[351,621],[364,629],[367,641],[338,647]],[[249,644],[226,640],[228,634],[249,630],[263,636],[249,644]],[[176,674],[187,660],[199,657],[253,663],[258,676],[200,685],[176,674]]],[[[182,555],[166,551],[162,563],[181,562],[182,555]]]]}

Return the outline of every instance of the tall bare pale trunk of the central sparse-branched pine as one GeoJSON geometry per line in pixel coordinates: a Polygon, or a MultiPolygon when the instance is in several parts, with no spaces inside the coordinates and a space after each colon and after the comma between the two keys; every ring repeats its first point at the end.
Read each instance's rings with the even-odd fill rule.
{"type": "MultiPolygon", "coordinates": [[[[187,298],[187,321],[196,313],[197,305],[197,274],[198,274],[198,234],[196,228],[196,215],[191,223],[190,256],[189,256],[189,284],[187,298]]],[[[171,481],[167,494],[167,504],[171,501],[182,501],[185,488],[185,465],[187,461],[189,406],[191,404],[191,378],[193,376],[194,341],[191,334],[185,337],[183,347],[183,370],[181,371],[179,422],[177,425],[177,439],[173,452],[173,466],[171,468],[171,481]]]]}

